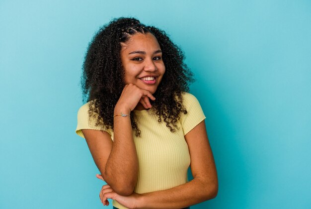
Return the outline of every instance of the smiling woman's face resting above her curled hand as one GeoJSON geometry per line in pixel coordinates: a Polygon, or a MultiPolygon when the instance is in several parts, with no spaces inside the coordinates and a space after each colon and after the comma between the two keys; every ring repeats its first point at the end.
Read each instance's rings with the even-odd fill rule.
{"type": "Polygon", "coordinates": [[[151,94],[156,92],[165,72],[161,48],[151,33],[138,33],[122,44],[121,62],[125,84],[134,84],[151,94]]]}

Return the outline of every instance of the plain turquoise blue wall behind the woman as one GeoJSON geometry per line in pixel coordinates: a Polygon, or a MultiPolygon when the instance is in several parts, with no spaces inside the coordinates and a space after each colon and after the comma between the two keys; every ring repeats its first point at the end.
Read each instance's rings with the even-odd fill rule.
{"type": "Polygon", "coordinates": [[[81,64],[99,26],[128,15],[195,73],[219,194],[192,208],[310,208],[309,0],[1,0],[0,208],[102,208],[75,134],[81,64]]]}

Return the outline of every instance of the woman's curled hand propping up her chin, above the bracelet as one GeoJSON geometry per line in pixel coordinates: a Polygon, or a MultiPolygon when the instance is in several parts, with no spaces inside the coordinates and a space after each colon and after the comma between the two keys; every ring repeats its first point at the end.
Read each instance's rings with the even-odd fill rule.
{"type": "Polygon", "coordinates": [[[124,109],[128,112],[123,113],[129,114],[138,103],[143,104],[146,109],[151,108],[149,99],[156,100],[156,98],[145,89],[141,89],[134,84],[125,85],[119,101],[115,106],[115,113],[119,114],[119,109],[124,109]]]}

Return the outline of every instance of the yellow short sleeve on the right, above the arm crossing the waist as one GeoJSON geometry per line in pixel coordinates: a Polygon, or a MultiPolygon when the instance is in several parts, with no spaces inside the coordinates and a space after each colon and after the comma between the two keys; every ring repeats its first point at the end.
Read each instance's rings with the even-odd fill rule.
{"type": "Polygon", "coordinates": [[[184,93],[182,95],[182,98],[183,98],[182,104],[186,108],[187,114],[181,113],[180,123],[184,135],[186,135],[190,130],[192,130],[195,126],[197,126],[200,122],[202,122],[206,117],[196,97],[194,97],[192,94],[184,93]]]}

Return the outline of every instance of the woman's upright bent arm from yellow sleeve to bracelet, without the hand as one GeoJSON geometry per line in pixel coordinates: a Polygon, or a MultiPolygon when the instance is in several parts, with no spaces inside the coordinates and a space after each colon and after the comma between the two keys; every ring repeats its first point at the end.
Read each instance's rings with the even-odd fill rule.
{"type": "Polygon", "coordinates": [[[130,117],[115,117],[114,127],[114,142],[105,131],[84,129],[82,133],[104,180],[126,196],[133,193],[138,173],[130,117]]]}

